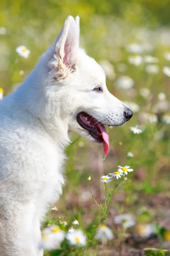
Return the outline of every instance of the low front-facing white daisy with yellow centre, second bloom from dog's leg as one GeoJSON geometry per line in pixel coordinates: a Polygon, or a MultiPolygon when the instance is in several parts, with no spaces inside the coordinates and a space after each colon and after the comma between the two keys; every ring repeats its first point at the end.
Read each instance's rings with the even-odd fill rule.
{"type": "Polygon", "coordinates": [[[75,230],[73,233],[68,232],[66,238],[71,245],[86,245],[86,236],[83,234],[82,230],[75,230]]]}

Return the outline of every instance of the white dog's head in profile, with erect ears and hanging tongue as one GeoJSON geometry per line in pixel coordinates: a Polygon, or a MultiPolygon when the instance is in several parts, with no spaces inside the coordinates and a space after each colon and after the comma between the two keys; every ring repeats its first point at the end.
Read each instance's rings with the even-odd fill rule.
{"type": "Polygon", "coordinates": [[[53,95],[59,118],[68,130],[103,143],[107,155],[109,140],[104,125],[122,125],[133,113],[109,93],[104,70],[79,48],[79,17],[65,20],[50,51],[48,94],[53,95]]]}

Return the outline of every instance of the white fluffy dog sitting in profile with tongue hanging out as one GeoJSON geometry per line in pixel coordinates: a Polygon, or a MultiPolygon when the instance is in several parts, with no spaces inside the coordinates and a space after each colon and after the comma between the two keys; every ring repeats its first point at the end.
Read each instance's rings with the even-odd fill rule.
{"type": "Polygon", "coordinates": [[[18,89],[0,103],[0,256],[42,256],[40,224],[62,193],[70,131],[109,140],[104,125],[133,115],[109,93],[105,73],[79,48],[79,17],[69,16],[55,43],[18,89]]]}

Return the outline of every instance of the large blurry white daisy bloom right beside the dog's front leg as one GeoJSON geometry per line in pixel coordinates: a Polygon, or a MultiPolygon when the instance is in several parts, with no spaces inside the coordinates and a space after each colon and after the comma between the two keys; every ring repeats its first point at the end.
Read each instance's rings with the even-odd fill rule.
{"type": "Polygon", "coordinates": [[[39,244],[41,249],[57,249],[65,239],[65,232],[59,226],[52,225],[42,231],[42,239],[39,244]]]}

